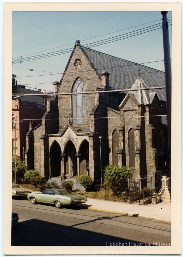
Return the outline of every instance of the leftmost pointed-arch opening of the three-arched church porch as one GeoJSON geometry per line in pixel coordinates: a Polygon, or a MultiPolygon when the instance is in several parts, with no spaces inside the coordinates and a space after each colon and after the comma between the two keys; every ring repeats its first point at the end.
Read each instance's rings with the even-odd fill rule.
{"type": "Polygon", "coordinates": [[[61,154],[60,145],[57,143],[57,141],[54,141],[50,149],[50,167],[51,167],[51,175],[53,177],[60,176],[60,169],[61,169],[60,154],[61,154]]]}

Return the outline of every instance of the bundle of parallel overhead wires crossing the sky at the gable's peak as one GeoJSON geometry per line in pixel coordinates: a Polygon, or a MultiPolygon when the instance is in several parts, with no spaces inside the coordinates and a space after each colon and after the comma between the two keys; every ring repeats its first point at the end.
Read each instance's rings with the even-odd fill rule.
{"type": "MultiPolygon", "coordinates": [[[[170,24],[170,25],[171,25],[171,24],[170,24]]],[[[158,25],[158,26],[160,26],[160,25],[158,25]]],[[[158,26],[154,26],[154,27],[158,27],[158,26]]],[[[153,27],[153,28],[154,28],[154,27],[153,27]]],[[[157,29],[160,29],[160,28],[161,28],[161,27],[159,27],[159,28],[157,28],[157,29]]],[[[151,29],[152,29],[152,28],[151,28],[151,29]]],[[[153,29],[153,30],[157,30],[157,29],[153,29]]],[[[149,29],[145,29],[145,30],[149,30],[149,29]]],[[[145,30],[141,30],[141,31],[145,31],[145,30]]],[[[132,33],[132,34],[127,35],[127,36],[122,36],[122,37],[120,37],[120,38],[118,38],[118,39],[115,39],[115,40],[108,40],[108,41],[105,41],[105,42],[102,42],[102,43],[96,43],[95,45],[91,45],[91,44],[90,44],[89,47],[96,47],[96,46],[98,46],[98,45],[103,45],[103,44],[115,42],[115,41],[118,41],[118,40],[130,38],[130,37],[135,36],[135,35],[144,34],[144,33],[147,33],[147,32],[153,31],[153,30],[149,30],[149,31],[142,32],[142,33],[135,32],[135,33],[132,33]],[[138,33],[138,34],[137,34],[137,33],[138,33]],[[135,35],[133,35],[133,34],[135,34],[135,35]]],[[[131,32],[129,32],[129,33],[131,33],[131,32]]],[[[129,34],[129,33],[125,33],[125,34],[129,34]]],[[[104,41],[104,40],[103,40],[103,41],[104,41]]],[[[94,42],[94,43],[95,43],[95,42],[94,42]]],[[[33,58],[34,56],[24,58],[24,60],[21,58],[21,59],[15,60],[13,64],[16,64],[16,63],[18,63],[18,62],[21,63],[21,62],[23,62],[23,61],[32,61],[32,60],[38,60],[38,59],[42,59],[42,58],[57,56],[57,55],[65,54],[65,53],[70,53],[70,52],[73,52],[73,51],[80,51],[80,50],[82,50],[82,49],[88,49],[88,48],[81,46],[79,49],[72,49],[71,51],[65,51],[65,52],[63,52],[64,50],[62,50],[62,52],[61,52],[61,51],[57,51],[57,52],[60,52],[60,53],[58,53],[58,54],[57,54],[56,52],[53,52],[53,53],[48,53],[48,54],[42,54],[42,55],[39,55],[39,56],[37,56],[37,57],[35,56],[35,58],[33,58]],[[44,56],[43,56],[43,55],[44,55],[44,56]],[[41,56],[43,56],[43,57],[41,57],[41,56]],[[32,59],[31,59],[31,58],[32,58],[32,59]]]]}

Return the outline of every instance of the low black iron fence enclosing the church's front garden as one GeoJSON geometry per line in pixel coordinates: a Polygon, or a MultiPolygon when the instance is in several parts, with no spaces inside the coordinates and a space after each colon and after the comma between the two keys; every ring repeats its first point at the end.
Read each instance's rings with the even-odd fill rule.
{"type": "MultiPolygon", "coordinates": [[[[86,197],[99,198],[105,200],[113,200],[113,201],[125,201],[129,203],[138,203],[144,201],[148,203],[146,198],[151,197],[152,194],[155,193],[155,189],[150,187],[144,187],[147,183],[143,183],[143,181],[147,181],[149,178],[142,178],[137,180],[129,180],[128,184],[125,187],[106,187],[103,184],[99,183],[91,183],[86,185],[81,185],[78,181],[73,181],[72,187],[68,188],[65,184],[66,181],[62,180],[51,180],[41,179],[41,180],[31,180],[24,178],[17,178],[17,184],[22,186],[23,188],[31,189],[31,190],[39,190],[43,191],[46,188],[66,188],[71,190],[77,195],[84,195],[86,197]]],[[[151,178],[152,179],[152,178],[151,178]]]]}

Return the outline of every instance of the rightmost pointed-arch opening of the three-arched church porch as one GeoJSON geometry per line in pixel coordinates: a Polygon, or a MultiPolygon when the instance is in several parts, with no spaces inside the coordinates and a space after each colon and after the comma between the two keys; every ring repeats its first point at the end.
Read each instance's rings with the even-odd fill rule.
{"type": "Polygon", "coordinates": [[[84,140],[79,151],[79,173],[89,175],[89,143],[84,140]]]}

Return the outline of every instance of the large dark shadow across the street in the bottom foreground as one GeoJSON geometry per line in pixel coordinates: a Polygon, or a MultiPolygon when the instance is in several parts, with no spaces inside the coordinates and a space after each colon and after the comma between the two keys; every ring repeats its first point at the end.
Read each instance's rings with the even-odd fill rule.
{"type": "MultiPolygon", "coordinates": [[[[77,225],[80,224],[75,226],[77,225]]],[[[125,245],[129,246],[130,243],[137,241],[130,241],[125,238],[74,228],[73,226],[54,224],[51,221],[40,221],[38,219],[12,224],[12,246],[106,246],[107,243],[110,245],[113,242],[125,243],[125,245]]]]}

